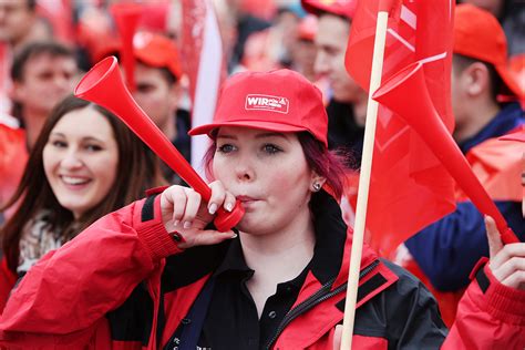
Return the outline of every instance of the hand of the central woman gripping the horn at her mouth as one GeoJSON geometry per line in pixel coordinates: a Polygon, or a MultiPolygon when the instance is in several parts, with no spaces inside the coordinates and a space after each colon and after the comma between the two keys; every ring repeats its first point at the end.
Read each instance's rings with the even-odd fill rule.
{"type": "Polygon", "coordinates": [[[219,233],[205,229],[213,222],[219,207],[230,212],[235,206],[235,196],[228,193],[219,182],[209,184],[212,197],[205,203],[200,194],[193,188],[171,186],[162,193],[161,210],[164,227],[168,233],[178,233],[183,241],[179,248],[215,245],[236,237],[233,230],[219,233]]]}

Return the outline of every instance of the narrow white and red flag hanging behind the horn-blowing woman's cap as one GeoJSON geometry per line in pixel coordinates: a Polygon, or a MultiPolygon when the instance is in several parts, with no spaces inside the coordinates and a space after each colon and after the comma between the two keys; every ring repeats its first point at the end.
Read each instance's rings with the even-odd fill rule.
{"type": "MultiPolygon", "coordinates": [[[[209,0],[183,0],[182,4],[181,53],[182,62],[186,65],[184,71],[189,78],[192,127],[196,127],[213,122],[219,86],[226,71],[213,3],[209,0]]],[[[199,168],[208,142],[204,135],[192,137],[192,165],[195,168],[199,168]]]]}

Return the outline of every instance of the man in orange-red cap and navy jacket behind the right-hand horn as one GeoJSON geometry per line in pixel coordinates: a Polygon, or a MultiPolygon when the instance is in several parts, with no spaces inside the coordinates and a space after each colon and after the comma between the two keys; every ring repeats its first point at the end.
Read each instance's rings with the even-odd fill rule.
{"type": "MultiPolygon", "coordinates": [[[[517,237],[525,240],[522,216],[521,155],[497,137],[524,124],[516,96],[524,91],[507,71],[503,29],[490,12],[472,4],[455,10],[452,60],[453,136],[472,168],[495,200],[517,237]],[[501,103],[498,95],[514,101],[501,103]]],[[[430,279],[441,311],[452,325],[457,302],[470,282],[476,261],[488,254],[483,215],[457,193],[456,210],[405,243],[418,267],[430,279]]],[[[411,269],[412,270],[412,269],[411,269]]]]}

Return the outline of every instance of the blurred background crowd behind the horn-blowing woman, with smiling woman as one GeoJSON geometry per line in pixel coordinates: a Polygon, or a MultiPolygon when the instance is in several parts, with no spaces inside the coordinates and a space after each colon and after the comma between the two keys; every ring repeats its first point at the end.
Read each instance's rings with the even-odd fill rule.
{"type": "MultiPolygon", "coordinates": [[[[121,55],[122,33],[113,9],[122,2],[133,1],[0,0],[2,285],[13,286],[45,253],[96,218],[141,198],[145,189],[182,182],[112,113],[72,96],[96,62],[121,55]]],[[[464,4],[457,7],[454,29],[453,136],[472,164],[501,173],[485,185],[523,241],[523,151],[508,142],[511,155],[494,140],[523,133],[525,2],[460,2],[464,4]],[[496,161],[483,157],[495,148],[501,155],[496,161]],[[515,185],[507,191],[509,183],[515,185]]],[[[181,53],[184,2],[134,3],[141,6],[141,17],[133,38],[133,97],[191,161],[187,131],[193,105],[181,53]]],[[[225,73],[287,68],[306,76],[323,93],[329,147],[350,154],[350,168],[359,169],[368,94],[344,66],[351,3],[213,1],[225,73]]],[[[354,192],[350,185],[346,191],[348,197],[354,192]]],[[[389,258],[428,284],[451,325],[470,271],[487,254],[483,216],[459,195],[456,212],[389,258]]],[[[1,290],[0,303],[9,291],[1,290]]]]}

